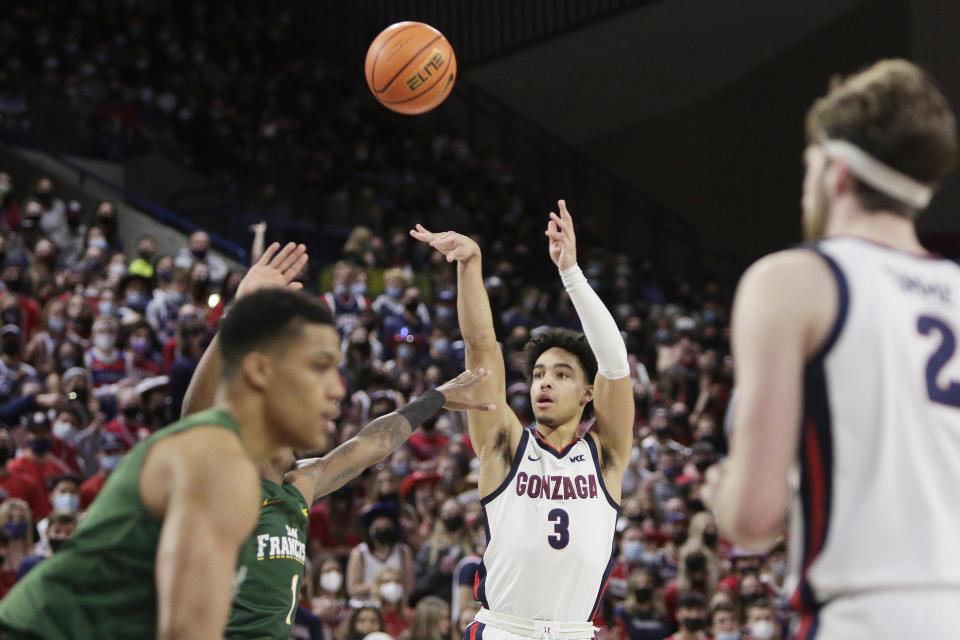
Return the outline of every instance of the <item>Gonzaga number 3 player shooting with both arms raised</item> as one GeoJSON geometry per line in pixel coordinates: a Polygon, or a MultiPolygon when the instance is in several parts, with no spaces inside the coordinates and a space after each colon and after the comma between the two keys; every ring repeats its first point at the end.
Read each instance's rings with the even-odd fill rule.
{"type": "Polygon", "coordinates": [[[457,262],[457,312],[470,369],[489,378],[491,412],[468,412],[480,460],[479,492],[488,544],[477,572],[482,609],[469,640],[586,640],[612,562],[620,484],[633,445],[633,391],[616,323],[577,266],[573,219],[565,203],[550,214],[550,258],[584,334],[549,329],[525,347],[536,424],[524,429],[509,409],[503,355],[483,286],[480,247],[453,231],[411,235],[457,262]],[[599,368],[599,373],[598,373],[599,368]],[[578,437],[585,411],[596,422],[578,437]]]}

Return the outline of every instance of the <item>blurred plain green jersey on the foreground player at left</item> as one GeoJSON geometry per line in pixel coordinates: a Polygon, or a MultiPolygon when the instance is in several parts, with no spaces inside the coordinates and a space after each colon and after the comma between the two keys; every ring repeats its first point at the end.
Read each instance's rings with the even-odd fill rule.
{"type": "Polygon", "coordinates": [[[131,449],[63,547],[0,601],[4,640],[156,636],[155,565],[163,522],[143,504],[140,470],[159,440],[198,425],[219,425],[240,437],[233,418],[210,409],[131,449]]]}

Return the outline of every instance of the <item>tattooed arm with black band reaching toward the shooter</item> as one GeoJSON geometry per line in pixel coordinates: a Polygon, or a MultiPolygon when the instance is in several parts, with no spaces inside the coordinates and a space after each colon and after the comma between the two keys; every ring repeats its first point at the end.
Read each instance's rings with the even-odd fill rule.
{"type": "Polygon", "coordinates": [[[336,491],[390,455],[406,442],[414,429],[441,408],[493,411],[493,404],[475,399],[475,391],[489,377],[490,372],[485,369],[464,371],[436,391],[427,391],[410,404],[377,418],[322,458],[301,460],[296,469],[286,474],[284,481],[297,487],[307,503],[336,491]]]}

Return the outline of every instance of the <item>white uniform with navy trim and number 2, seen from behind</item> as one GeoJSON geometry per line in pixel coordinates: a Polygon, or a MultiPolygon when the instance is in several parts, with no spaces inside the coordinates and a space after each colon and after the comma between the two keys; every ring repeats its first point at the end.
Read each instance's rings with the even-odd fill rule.
{"type": "Polygon", "coordinates": [[[804,378],[797,637],[956,637],[960,266],[852,237],[813,249],[840,306],[804,378]]]}

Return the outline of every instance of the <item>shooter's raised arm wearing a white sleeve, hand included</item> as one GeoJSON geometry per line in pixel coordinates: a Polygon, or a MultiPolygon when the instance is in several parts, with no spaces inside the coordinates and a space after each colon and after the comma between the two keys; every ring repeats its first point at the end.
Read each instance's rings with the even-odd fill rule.
{"type": "MultiPolygon", "coordinates": [[[[573,217],[566,202],[557,202],[559,215],[550,212],[550,221],[544,232],[550,241],[550,259],[560,270],[563,286],[577,310],[583,333],[597,358],[597,377],[593,388],[593,409],[596,414],[597,436],[603,455],[603,464],[622,473],[630,461],[633,449],[633,384],[627,347],[620,329],[590,287],[577,266],[577,237],[573,231],[573,217]]],[[[619,487],[610,487],[619,493],[619,487]]]]}

